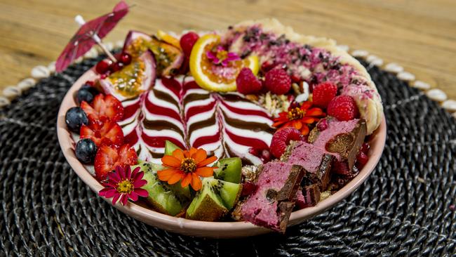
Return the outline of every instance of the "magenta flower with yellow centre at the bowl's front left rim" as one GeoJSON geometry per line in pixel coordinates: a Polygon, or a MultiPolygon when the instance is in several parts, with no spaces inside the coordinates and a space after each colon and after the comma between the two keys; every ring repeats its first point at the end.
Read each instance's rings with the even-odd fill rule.
{"type": "Polygon", "coordinates": [[[143,176],[144,172],[140,171],[140,167],[132,172],[130,166],[126,169],[116,166],[116,170],[108,174],[107,182],[104,183],[105,188],[100,190],[98,195],[105,198],[112,197],[112,205],[119,200],[124,206],[128,203],[128,199],[136,202],[139,197],[149,196],[149,192],[141,188],[147,184],[147,180],[142,179],[143,176]]]}

